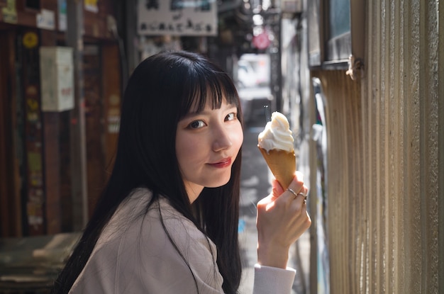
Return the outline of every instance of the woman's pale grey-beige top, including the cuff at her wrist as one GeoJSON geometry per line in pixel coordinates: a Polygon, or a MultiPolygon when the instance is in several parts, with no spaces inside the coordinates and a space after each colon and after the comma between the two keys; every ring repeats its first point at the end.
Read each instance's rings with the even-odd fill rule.
{"type": "MultiPolygon", "coordinates": [[[[199,293],[223,293],[216,245],[165,198],[145,215],[151,195],[138,188],[119,206],[71,294],[197,293],[196,285],[199,293]],[[184,258],[168,239],[159,208],[163,225],[184,258]]],[[[294,275],[292,269],[256,265],[254,294],[291,293],[294,275]]]]}

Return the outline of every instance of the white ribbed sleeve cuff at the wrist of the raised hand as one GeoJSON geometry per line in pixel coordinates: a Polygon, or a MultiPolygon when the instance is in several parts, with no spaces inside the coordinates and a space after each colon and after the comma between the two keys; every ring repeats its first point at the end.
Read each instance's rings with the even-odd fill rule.
{"type": "Polygon", "coordinates": [[[289,294],[296,271],[293,268],[274,268],[255,264],[253,294],[289,294]]]}

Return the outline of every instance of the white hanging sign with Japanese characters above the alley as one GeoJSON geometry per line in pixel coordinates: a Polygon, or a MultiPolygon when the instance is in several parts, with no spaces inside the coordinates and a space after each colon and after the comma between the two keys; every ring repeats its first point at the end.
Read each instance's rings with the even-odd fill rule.
{"type": "Polygon", "coordinates": [[[217,35],[216,0],[138,0],[139,35],[217,35]]]}

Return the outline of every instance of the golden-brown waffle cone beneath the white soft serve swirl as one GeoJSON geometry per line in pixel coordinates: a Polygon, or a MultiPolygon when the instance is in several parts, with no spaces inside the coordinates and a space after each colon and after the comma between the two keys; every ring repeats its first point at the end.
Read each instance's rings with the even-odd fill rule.
{"type": "Polygon", "coordinates": [[[289,184],[292,183],[294,172],[296,171],[296,157],[294,156],[294,152],[279,149],[271,149],[267,152],[266,149],[258,148],[274,177],[279,181],[282,188],[287,189],[289,184]]]}

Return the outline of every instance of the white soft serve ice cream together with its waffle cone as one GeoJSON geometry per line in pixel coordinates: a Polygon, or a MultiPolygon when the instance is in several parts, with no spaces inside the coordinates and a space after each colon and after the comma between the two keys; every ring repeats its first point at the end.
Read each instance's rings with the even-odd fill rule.
{"type": "Polygon", "coordinates": [[[272,120],[257,137],[257,147],[282,188],[288,188],[296,171],[294,139],[285,115],[272,113],[272,120]]]}

